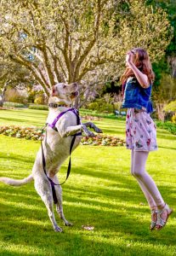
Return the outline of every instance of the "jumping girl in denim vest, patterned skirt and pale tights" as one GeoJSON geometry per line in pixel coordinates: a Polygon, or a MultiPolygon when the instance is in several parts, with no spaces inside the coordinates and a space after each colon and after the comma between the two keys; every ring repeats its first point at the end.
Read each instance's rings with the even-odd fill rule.
{"type": "Polygon", "coordinates": [[[124,97],[122,108],[128,108],[126,143],[131,149],[131,173],[145,194],[151,210],[150,230],[162,230],[173,212],[145,171],[149,152],[157,150],[156,126],[150,118],[153,111],[150,95],[154,73],[145,49],[134,48],[126,56],[126,69],[122,74],[124,97]]]}

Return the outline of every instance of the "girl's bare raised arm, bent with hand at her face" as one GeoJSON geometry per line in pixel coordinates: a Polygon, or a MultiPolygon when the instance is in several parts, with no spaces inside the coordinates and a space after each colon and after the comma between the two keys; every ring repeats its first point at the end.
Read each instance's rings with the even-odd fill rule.
{"type": "Polygon", "coordinates": [[[149,79],[145,75],[145,73],[142,73],[139,71],[138,67],[136,67],[133,64],[133,53],[131,51],[128,51],[127,57],[126,57],[126,63],[128,67],[130,67],[133,70],[133,73],[136,77],[136,79],[139,81],[139,84],[143,88],[148,88],[150,86],[149,79]]]}

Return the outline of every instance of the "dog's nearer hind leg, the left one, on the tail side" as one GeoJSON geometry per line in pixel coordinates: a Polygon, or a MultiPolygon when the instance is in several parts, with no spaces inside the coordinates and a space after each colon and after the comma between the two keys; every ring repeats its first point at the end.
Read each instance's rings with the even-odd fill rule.
{"type": "Polygon", "coordinates": [[[35,179],[35,189],[37,190],[37,194],[41,196],[45,206],[48,210],[48,217],[53,224],[54,231],[62,232],[62,229],[58,226],[54,217],[54,209],[53,209],[53,195],[51,185],[48,180],[43,179],[43,177],[34,177],[35,179]]]}

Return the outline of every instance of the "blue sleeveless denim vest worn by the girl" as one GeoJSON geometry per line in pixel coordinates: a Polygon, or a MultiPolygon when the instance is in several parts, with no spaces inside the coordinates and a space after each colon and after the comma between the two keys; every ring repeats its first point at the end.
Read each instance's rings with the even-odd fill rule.
{"type": "Polygon", "coordinates": [[[147,113],[153,112],[150,102],[151,84],[148,88],[143,88],[136,78],[128,78],[125,84],[122,108],[143,109],[147,113]]]}

